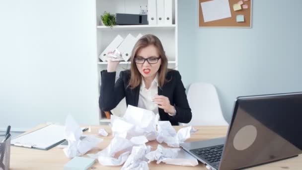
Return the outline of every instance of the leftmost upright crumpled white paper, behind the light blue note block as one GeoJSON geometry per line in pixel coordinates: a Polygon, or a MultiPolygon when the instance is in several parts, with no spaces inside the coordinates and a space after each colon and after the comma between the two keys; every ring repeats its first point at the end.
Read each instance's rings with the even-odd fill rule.
{"type": "Polygon", "coordinates": [[[65,138],[68,141],[68,147],[64,148],[65,155],[72,159],[75,156],[82,156],[92,148],[103,142],[103,139],[97,138],[93,135],[88,135],[83,140],[80,140],[82,130],[76,123],[75,119],[69,115],[65,122],[65,138]]]}

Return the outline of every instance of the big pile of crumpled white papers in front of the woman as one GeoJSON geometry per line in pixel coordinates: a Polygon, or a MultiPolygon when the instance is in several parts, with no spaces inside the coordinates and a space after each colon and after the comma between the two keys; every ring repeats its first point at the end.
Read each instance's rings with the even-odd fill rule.
{"type": "Polygon", "coordinates": [[[125,163],[122,170],[149,170],[148,163],[151,161],[157,164],[198,165],[197,159],[179,149],[179,144],[189,139],[196,130],[189,126],[176,132],[169,121],[158,121],[158,116],[150,110],[128,105],[123,117],[111,116],[114,138],[109,146],[88,156],[98,159],[103,166],[120,166],[125,163]],[[152,140],[174,148],[158,145],[155,151],[151,151],[151,146],[146,146],[146,143],[152,140]]]}

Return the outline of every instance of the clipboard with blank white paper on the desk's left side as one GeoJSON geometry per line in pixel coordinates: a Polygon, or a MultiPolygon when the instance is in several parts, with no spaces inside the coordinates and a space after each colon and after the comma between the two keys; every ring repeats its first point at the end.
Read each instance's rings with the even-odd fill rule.
{"type": "MultiPolygon", "coordinates": [[[[82,128],[87,130],[88,128],[82,128]]],[[[49,150],[65,141],[65,126],[51,124],[33,132],[18,136],[10,145],[31,149],[49,150]]]]}

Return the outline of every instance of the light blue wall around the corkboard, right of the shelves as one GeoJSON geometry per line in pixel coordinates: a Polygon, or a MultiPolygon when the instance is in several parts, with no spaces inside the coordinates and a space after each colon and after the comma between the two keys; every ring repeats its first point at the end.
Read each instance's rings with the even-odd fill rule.
{"type": "Polygon", "coordinates": [[[302,0],[288,1],[253,0],[252,28],[198,28],[198,0],[178,1],[184,84],[214,84],[227,121],[236,96],[302,91],[302,0]]]}

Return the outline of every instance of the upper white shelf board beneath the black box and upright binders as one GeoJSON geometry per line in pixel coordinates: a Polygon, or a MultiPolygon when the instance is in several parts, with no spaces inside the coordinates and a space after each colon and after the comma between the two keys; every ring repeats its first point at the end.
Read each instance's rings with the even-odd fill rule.
{"type": "Polygon", "coordinates": [[[101,25],[97,26],[98,30],[142,30],[142,29],[175,29],[175,24],[172,25],[115,25],[112,28],[101,25]]]}

